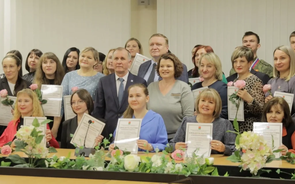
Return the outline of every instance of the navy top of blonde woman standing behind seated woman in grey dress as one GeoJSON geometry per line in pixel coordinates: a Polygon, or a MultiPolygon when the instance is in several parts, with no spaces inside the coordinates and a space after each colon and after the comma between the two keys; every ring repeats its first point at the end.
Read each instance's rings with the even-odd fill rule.
{"type": "MultiPolygon", "coordinates": [[[[203,87],[202,83],[203,82],[198,82],[198,83],[194,84],[191,87],[191,90],[199,89],[199,88],[203,87]]],[[[220,98],[221,98],[221,103],[222,103],[222,110],[221,110],[221,113],[220,113],[219,117],[227,120],[228,119],[228,112],[227,112],[228,111],[228,109],[227,109],[227,84],[225,84],[224,82],[222,82],[220,80],[217,80],[213,84],[209,85],[208,88],[213,88],[219,93],[220,98]]]]}

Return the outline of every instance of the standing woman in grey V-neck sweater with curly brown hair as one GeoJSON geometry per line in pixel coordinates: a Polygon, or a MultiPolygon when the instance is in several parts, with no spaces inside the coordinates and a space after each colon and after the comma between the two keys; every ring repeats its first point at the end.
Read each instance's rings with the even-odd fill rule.
{"type": "Polygon", "coordinates": [[[188,84],[176,80],[182,74],[182,64],[174,54],[163,54],[157,62],[156,71],[162,79],[148,85],[148,110],[163,117],[169,141],[183,117],[194,115],[194,96],[188,84]]]}

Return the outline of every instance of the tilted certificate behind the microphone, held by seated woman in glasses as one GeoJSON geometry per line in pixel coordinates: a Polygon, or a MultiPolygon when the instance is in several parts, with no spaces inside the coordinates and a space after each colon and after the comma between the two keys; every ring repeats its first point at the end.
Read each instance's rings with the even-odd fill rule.
{"type": "Polygon", "coordinates": [[[105,125],[104,122],[84,113],[70,143],[80,147],[83,146],[85,142],[85,147],[93,148],[95,145],[95,138],[101,134],[105,125]]]}

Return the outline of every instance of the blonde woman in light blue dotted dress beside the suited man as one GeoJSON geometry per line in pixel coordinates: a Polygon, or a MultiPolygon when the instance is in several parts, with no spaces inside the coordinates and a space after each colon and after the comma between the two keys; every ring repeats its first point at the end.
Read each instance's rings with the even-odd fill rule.
{"type": "MultiPolygon", "coordinates": [[[[94,66],[99,62],[99,53],[93,47],[86,47],[80,52],[79,65],[80,69],[68,72],[63,77],[63,96],[72,95],[72,87],[86,89],[94,99],[98,81],[104,74],[96,72],[94,66]]],[[[63,116],[64,107],[61,107],[60,115],[63,116]]],[[[60,126],[62,117],[54,117],[53,128],[51,131],[57,136],[58,127],[60,126]]]]}

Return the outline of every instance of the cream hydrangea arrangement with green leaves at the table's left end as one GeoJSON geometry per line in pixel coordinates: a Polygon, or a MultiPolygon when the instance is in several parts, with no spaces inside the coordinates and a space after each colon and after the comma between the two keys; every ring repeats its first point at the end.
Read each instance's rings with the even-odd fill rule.
{"type": "MultiPolygon", "coordinates": [[[[14,141],[16,146],[15,151],[24,152],[28,156],[29,162],[27,163],[24,158],[17,154],[10,154],[7,159],[11,160],[13,163],[18,164],[14,167],[35,168],[44,164],[45,160],[41,158],[46,158],[49,152],[57,152],[54,147],[49,147],[47,149],[45,143],[42,142],[42,139],[45,135],[42,134],[42,131],[38,130],[40,125],[46,125],[51,121],[52,120],[44,120],[39,123],[37,118],[35,118],[33,120],[32,126],[21,126],[15,135],[17,138],[14,141]]],[[[6,150],[6,152],[10,152],[7,146],[10,147],[11,143],[12,142],[8,142],[5,148],[2,147],[1,153],[3,152],[3,149],[6,150]]],[[[10,164],[11,162],[1,162],[1,166],[8,167],[10,164]]]]}

